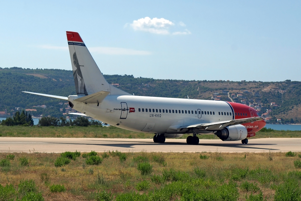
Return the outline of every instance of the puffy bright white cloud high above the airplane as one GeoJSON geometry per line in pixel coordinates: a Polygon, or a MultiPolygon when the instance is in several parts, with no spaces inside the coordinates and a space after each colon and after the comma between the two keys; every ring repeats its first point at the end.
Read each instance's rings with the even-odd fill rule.
{"type": "MultiPolygon", "coordinates": [[[[127,26],[127,24],[125,25],[127,26]]],[[[156,34],[169,34],[169,27],[174,26],[174,23],[166,20],[164,18],[154,17],[151,19],[150,17],[144,17],[139,20],[134,20],[130,26],[135,30],[146,31],[150,33],[156,34]]]]}

